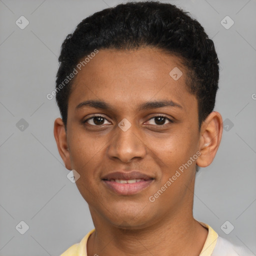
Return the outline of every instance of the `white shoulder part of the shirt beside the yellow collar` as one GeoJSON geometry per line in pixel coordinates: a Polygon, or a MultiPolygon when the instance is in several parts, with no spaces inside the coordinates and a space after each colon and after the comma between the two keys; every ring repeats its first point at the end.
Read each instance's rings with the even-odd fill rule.
{"type": "Polygon", "coordinates": [[[253,254],[243,247],[229,242],[223,237],[218,236],[216,245],[211,256],[252,256],[253,254]]]}

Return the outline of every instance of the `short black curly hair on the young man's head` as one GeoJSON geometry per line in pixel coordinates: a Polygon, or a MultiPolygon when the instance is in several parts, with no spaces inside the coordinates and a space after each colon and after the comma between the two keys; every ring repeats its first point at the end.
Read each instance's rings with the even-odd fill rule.
{"type": "Polygon", "coordinates": [[[125,50],[146,46],[180,58],[186,68],[187,89],[197,99],[200,127],[214,108],[218,89],[219,61],[214,44],[200,23],[188,12],[159,1],[121,3],[95,12],[66,36],[58,58],[55,88],[65,127],[73,80],[66,77],[73,72],[81,58],[95,52],[95,49],[125,50]]]}

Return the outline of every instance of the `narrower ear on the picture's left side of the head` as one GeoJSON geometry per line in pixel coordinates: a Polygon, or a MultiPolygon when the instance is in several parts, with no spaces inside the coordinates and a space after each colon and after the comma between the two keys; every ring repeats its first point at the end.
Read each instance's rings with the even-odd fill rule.
{"type": "Polygon", "coordinates": [[[70,154],[67,145],[65,126],[61,118],[54,121],[54,138],[57,143],[58,152],[68,170],[71,170],[70,154]]]}

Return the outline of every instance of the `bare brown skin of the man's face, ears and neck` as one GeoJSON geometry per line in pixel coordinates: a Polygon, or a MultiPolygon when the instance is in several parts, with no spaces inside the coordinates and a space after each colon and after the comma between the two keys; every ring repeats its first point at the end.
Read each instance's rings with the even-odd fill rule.
{"type": "Polygon", "coordinates": [[[196,256],[201,252],[208,231],[192,215],[195,163],[205,167],[212,162],[222,119],[213,111],[198,129],[197,100],[188,92],[185,77],[186,68],[178,57],[149,47],[100,49],[76,74],[66,131],[57,118],[54,137],[66,168],[80,174],[76,185],[95,226],[87,242],[88,256],[196,256]],[[176,81],[169,75],[175,66],[183,72],[176,81]],[[105,101],[112,109],[76,108],[88,99],[105,101]],[[172,100],[181,107],[138,110],[138,105],[154,100],[172,100]],[[92,114],[105,119],[82,123],[92,114]],[[173,122],[153,118],[157,114],[173,122]],[[123,118],[131,124],[126,131],[118,126],[123,118]],[[150,202],[149,196],[197,151],[200,156],[150,202]],[[101,180],[118,170],[138,170],[154,180],[139,193],[119,195],[101,180]]]}

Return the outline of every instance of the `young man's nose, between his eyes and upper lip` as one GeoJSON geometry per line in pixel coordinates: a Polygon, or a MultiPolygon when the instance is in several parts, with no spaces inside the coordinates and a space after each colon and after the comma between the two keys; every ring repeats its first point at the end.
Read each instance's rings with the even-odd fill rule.
{"type": "Polygon", "coordinates": [[[119,125],[116,125],[115,135],[112,137],[108,147],[108,157],[118,158],[125,163],[130,162],[134,157],[145,157],[146,145],[140,136],[139,127],[129,123],[130,127],[126,129],[127,123],[125,122],[120,122],[119,125]]]}

